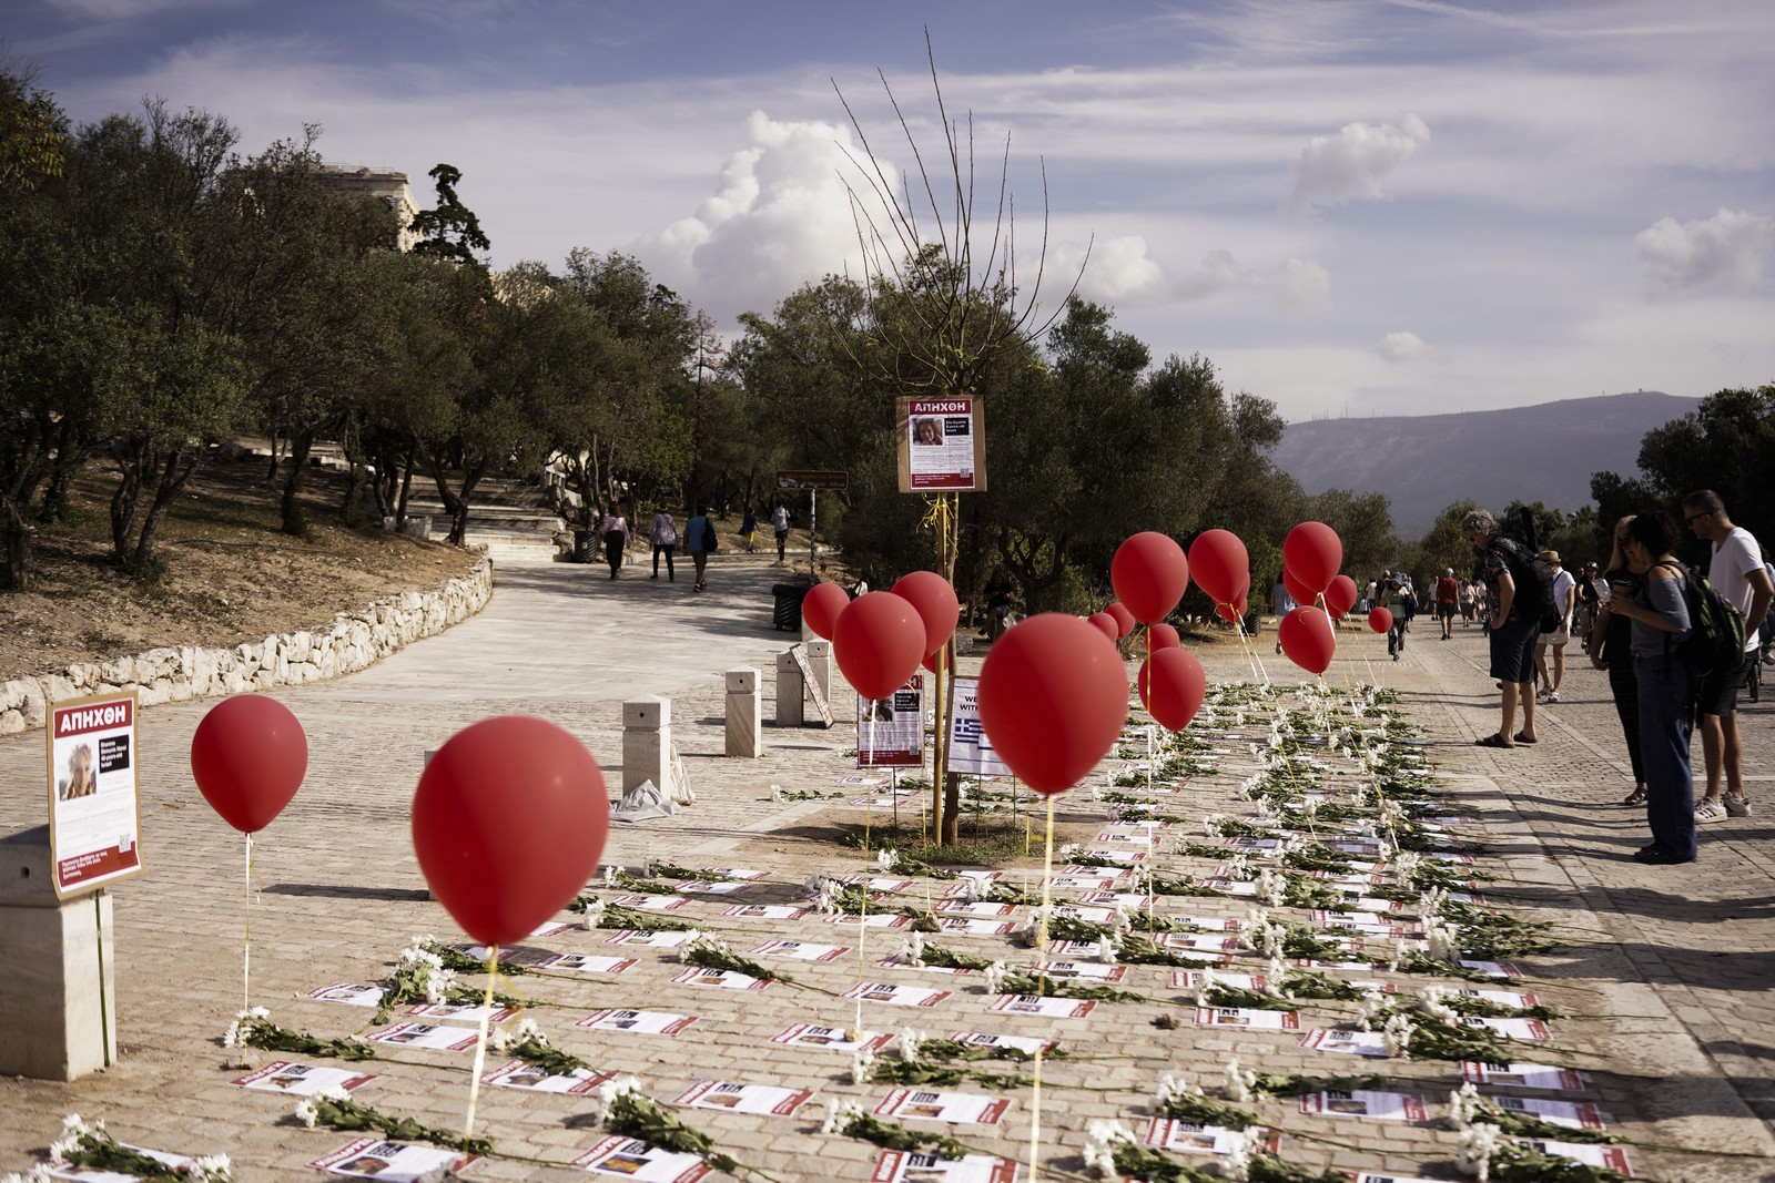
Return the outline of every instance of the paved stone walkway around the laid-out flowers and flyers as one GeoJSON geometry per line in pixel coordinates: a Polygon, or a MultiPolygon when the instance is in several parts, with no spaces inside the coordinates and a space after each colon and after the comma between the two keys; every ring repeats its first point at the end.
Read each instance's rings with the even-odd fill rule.
{"type": "MultiPolygon", "coordinates": [[[[602,568],[511,568],[499,573],[492,605],[451,633],[351,679],[280,692],[277,697],[309,733],[311,764],[304,789],[261,835],[252,1002],[268,1006],[273,1020],[288,1027],[343,1036],[367,1013],[314,1002],[305,997],[311,990],[385,975],[415,933],[456,936],[447,915],[426,899],[408,837],[408,805],[422,752],[488,715],[550,718],[579,734],[609,779],[619,780],[621,701],[667,693],[674,738],[699,802],[671,819],[618,827],[607,862],[639,867],[660,857],[758,867],[770,874],[756,896],[763,903],[795,901],[813,871],[861,873],[861,858],[827,839],[832,821],[857,821],[863,811],[836,802],[774,803],[769,795],[770,784],[836,791],[838,777],[854,772],[843,756],[856,743],[852,727],[767,727],[765,757],[721,756],[721,670],[760,667],[769,718],[774,653],[790,640],[770,630],[770,584],[781,576],[756,560],[724,557],[710,571],[710,591],[692,594],[687,580],[651,582],[634,571],[611,582],[602,568]]],[[[1303,679],[1273,656],[1269,635],[1257,654],[1278,683],[1303,679]]],[[[1232,646],[1202,656],[1214,681],[1250,678],[1246,658],[1232,646]]],[[[1757,814],[1706,827],[1697,866],[1642,867],[1628,858],[1645,841],[1644,818],[1617,803],[1629,786],[1603,674],[1587,663],[1571,670],[1566,701],[1541,715],[1542,743],[1512,752],[1470,745],[1495,727],[1496,713],[1477,630],[1457,630],[1447,644],[1432,633],[1424,640],[1413,635],[1399,663],[1384,660],[1381,639],[1345,630],[1328,681],[1360,679],[1404,695],[1411,718],[1425,729],[1448,796],[1482,823],[1489,839],[1482,866],[1500,876],[1487,885],[1487,897],[1558,924],[1567,949],[1530,960],[1528,988],[1571,1015],[1555,1023],[1566,1054],[1555,1062],[1590,1073],[1587,1096],[1612,1114],[1612,1130],[1635,1140],[1635,1169],[1693,1183],[1775,1178],[1775,1057],[1766,1034],[1775,1020],[1775,908],[1764,841],[1775,800],[1759,800],[1775,764],[1768,706],[1743,711],[1757,814]]],[[[848,718],[848,695],[838,697],[838,715],[848,718]]],[[[64,1112],[105,1117],[119,1137],[137,1144],[225,1151],[243,1181],[320,1178],[304,1163],[348,1140],[291,1123],[286,1098],[229,1084],[240,1073],[225,1068],[229,1054],[218,1036],[241,999],[241,842],[190,782],[190,736],[208,706],[154,708],[140,722],[149,873],[115,890],[122,1061],[67,1085],[0,1080],[0,1171],[23,1171],[36,1160],[64,1112]]],[[[1230,757],[1225,775],[1198,782],[1200,795],[1187,802],[1191,818],[1248,811],[1234,796],[1235,761],[1230,757]]],[[[41,733],[0,741],[0,832],[41,823],[41,733]]],[[[1065,828],[1086,841],[1104,818],[1104,807],[1085,795],[1061,802],[1065,828]]],[[[880,825],[880,812],[873,821],[880,825]]],[[[919,881],[909,894],[941,889],[919,881]]],[[[1170,990],[1170,970],[1154,967],[1131,967],[1127,981],[1152,1002],[1100,1006],[1088,1020],[1069,1022],[989,1013],[978,975],[877,968],[898,949],[895,933],[870,933],[859,970],[854,924],[724,917],[728,903],[699,899],[683,915],[719,931],[742,954],[769,938],[847,945],[850,952],[825,965],[783,963],[806,990],[676,986],[669,979],[683,967],[669,961],[669,951],[644,947],[623,949],[641,961],[623,975],[524,977],[515,984],[548,1004],[534,1013],[559,1045],[598,1068],[637,1073],[655,1098],[669,1100],[694,1080],[714,1077],[813,1089],[815,1103],[795,1117],[683,1110],[689,1124],[708,1130],[721,1149],[781,1179],[866,1179],[879,1156],[863,1142],[822,1137],[818,1121],[825,1100],[872,1105],[886,1087],[852,1085],[847,1057],[770,1043],[792,1022],[850,1025],[854,1004],[836,995],[859,979],[953,991],[934,1011],[870,1004],[863,1023],[873,1030],[896,1032],[911,1018],[932,1034],[971,1029],[1065,1039],[1077,1059],[1054,1061],[1045,1075],[1044,1178],[1083,1172],[1079,1149],[1088,1121],[1113,1117],[1143,1128],[1141,1114],[1161,1071],[1184,1071],[1212,1091],[1230,1055],[1248,1066],[1315,1075],[1383,1071],[1420,1087],[1434,1101],[1432,1116],[1456,1084],[1450,1064],[1360,1066],[1349,1062],[1354,1057],[1301,1050],[1289,1036],[1193,1029],[1187,1011],[1177,1009],[1184,991],[1170,990]],[[698,1022],[674,1038],[573,1027],[595,1009],[630,1006],[696,1015],[698,1022]],[[1152,1027],[1154,1018],[1170,1015],[1184,1016],[1186,1025],[1173,1032],[1152,1027]]],[[[1242,901],[1200,905],[1191,910],[1244,915],[1242,901]]],[[[570,931],[536,944],[609,952],[605,936],[570,931]]],[[[1001,940],[941,940],[985,956],[1019,956],[1006,952],[1001,940]]],[[[1333,1006],[1310,1015],[1308,1025],[1347,1018],[1347,1006],[1342,1013],[1333,1006]]],[[[424,1050],[392,1055],[366,1066],[378,1080],[360,1096],[387,1114],[460,1128],[469,1057],[424,1050]]],[[[1017,1158],[1028,1142],[1030,1096],[1006,1096],[1010,1112],[999,1128],[962,1126],[957,1133],[1017,1158]]],[[[1267,1121],[1333,1139],[1287,1137],[1283,1155],[1303,1165],[1456,1178],[1454,1135],[1440,1121],[1306,1117],[1292,1103],[1269,1105],[1262,1110],[1267,1121]]],[[[504,1153],[564,1162],[600,1139],[586,1110],[582,1098],[488,1089],[476,1132],[495,1135],[504,1153]]],[[[472,1167],[472,1178],[584,1176],[501,1158],[472,1167]]]]}

